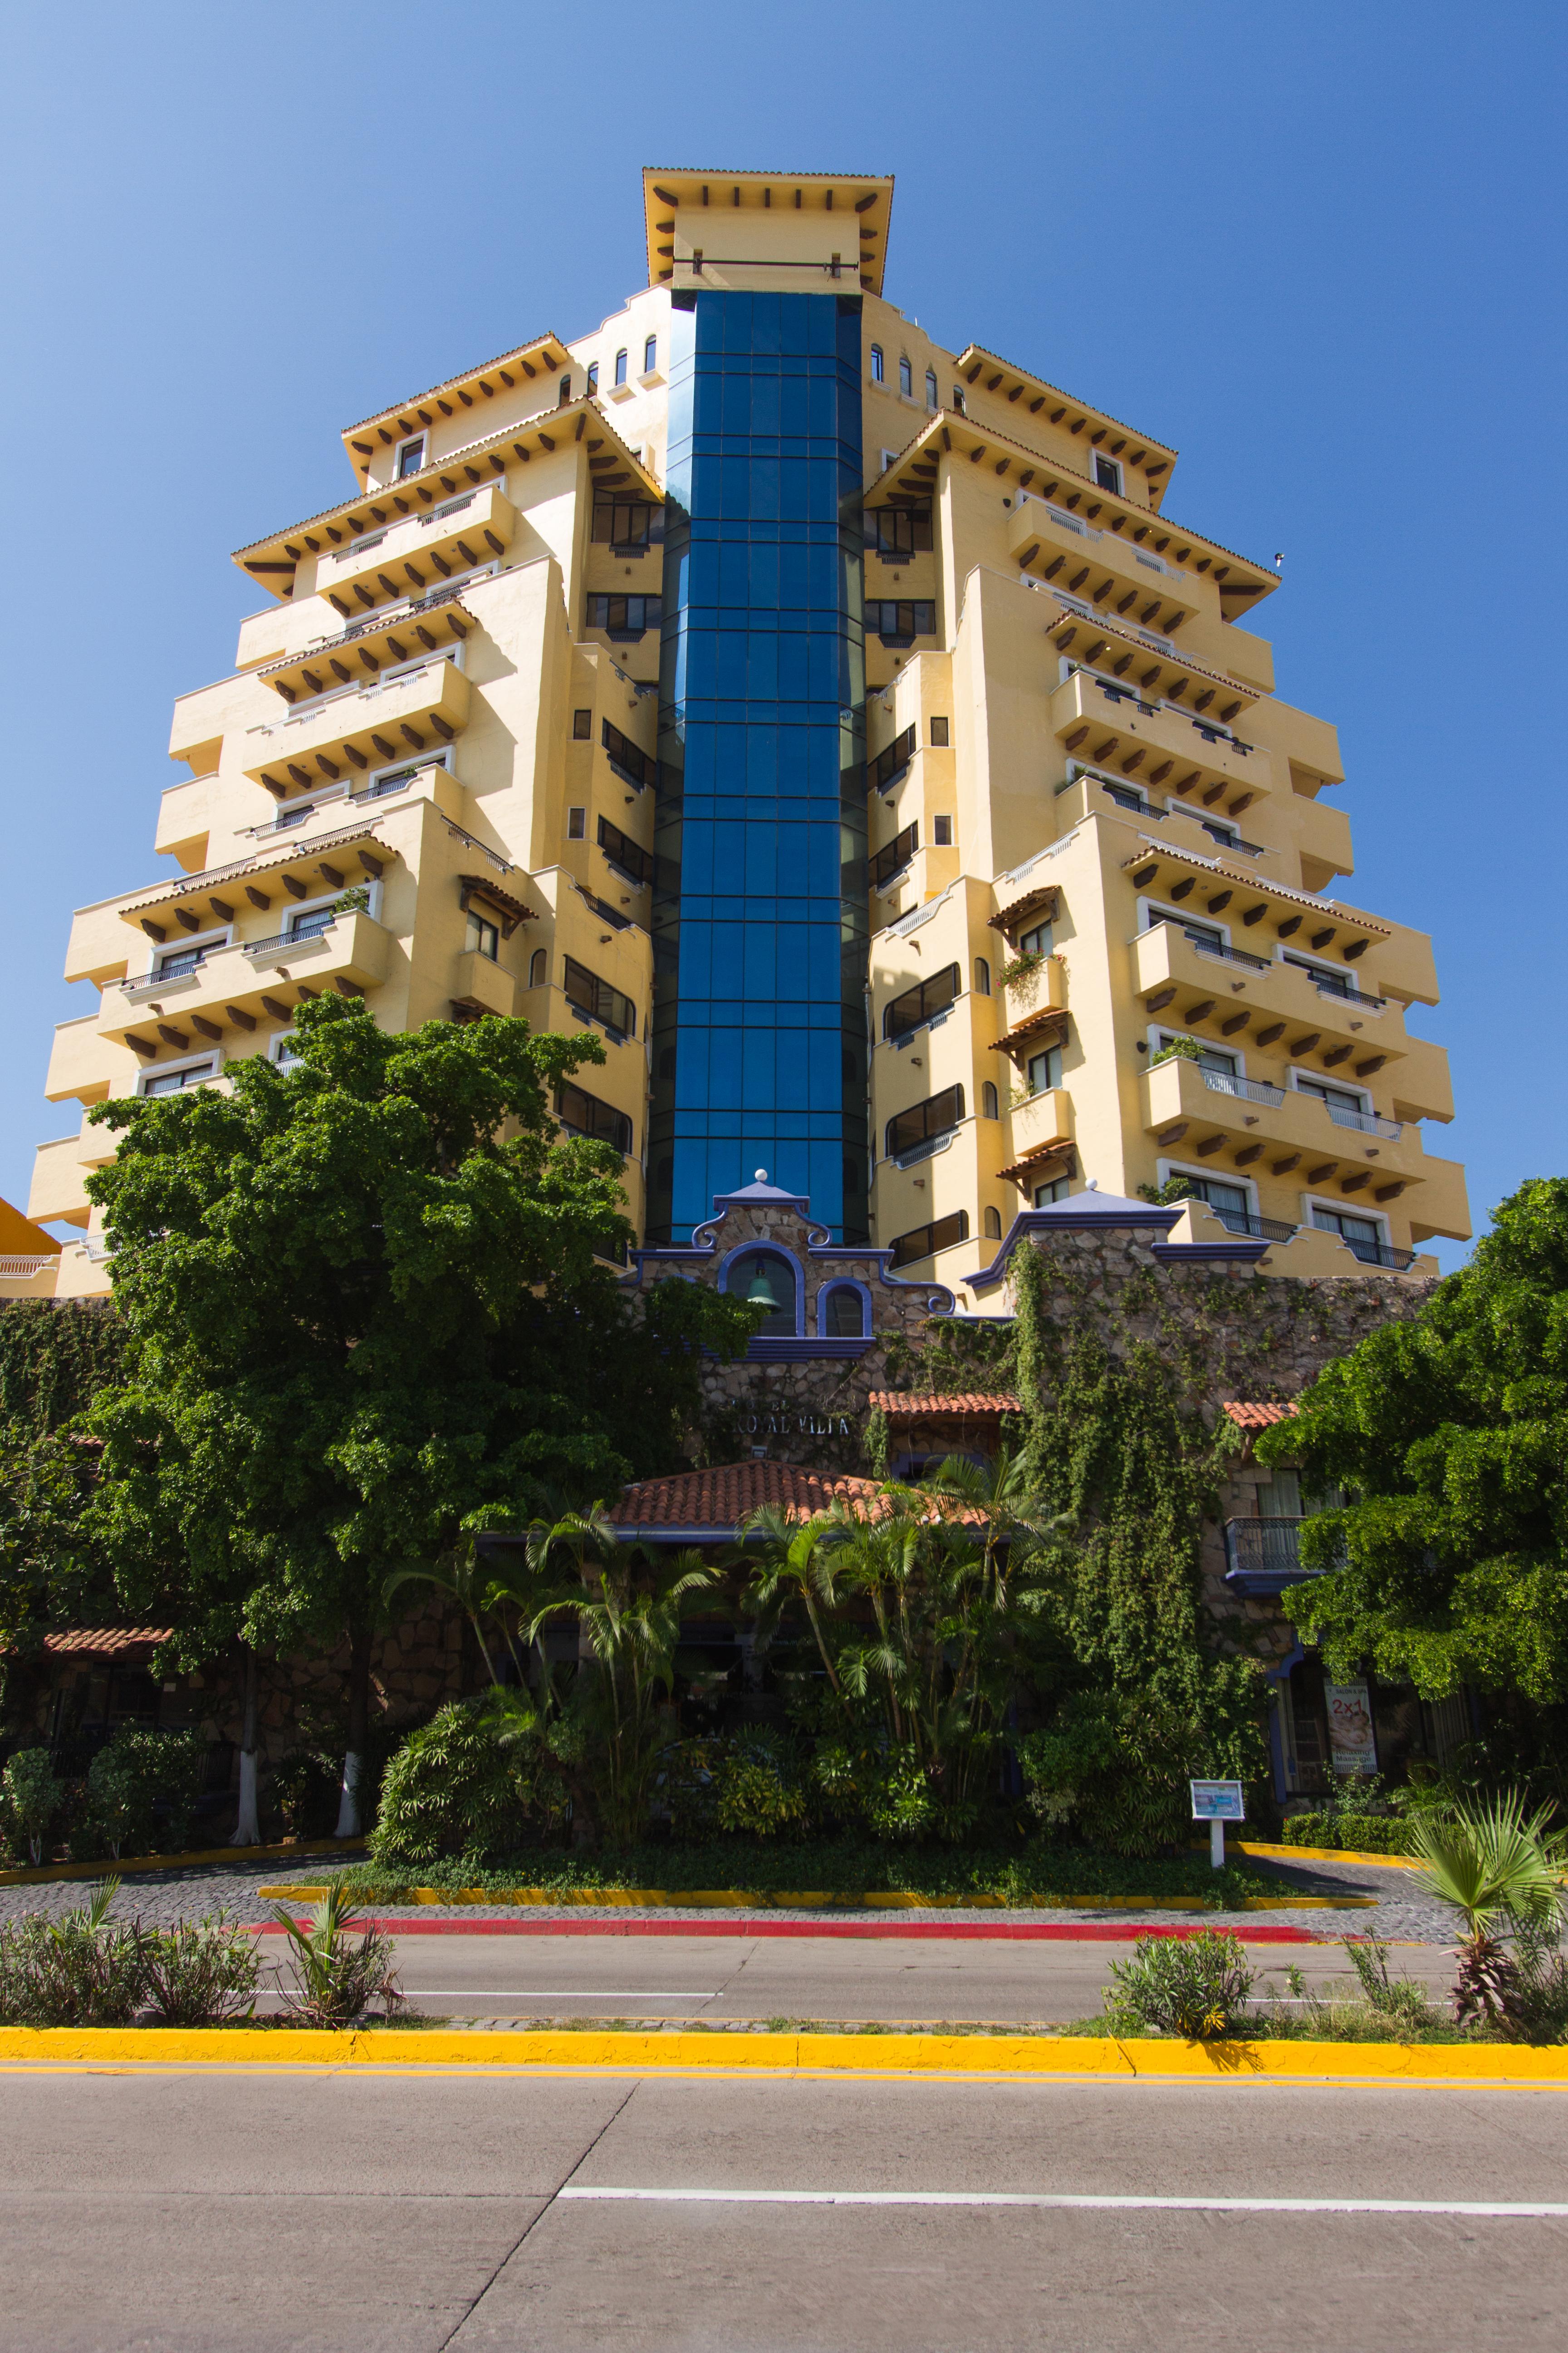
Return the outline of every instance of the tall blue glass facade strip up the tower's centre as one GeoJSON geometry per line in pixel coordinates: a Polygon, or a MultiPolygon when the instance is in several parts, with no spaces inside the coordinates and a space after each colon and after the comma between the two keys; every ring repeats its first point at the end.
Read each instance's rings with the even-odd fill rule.
{"type": "Polygon", "coordinates": [[[865,1240],[860,301],[672,301],[649,1240],[759,1167],[865,1240]]]}

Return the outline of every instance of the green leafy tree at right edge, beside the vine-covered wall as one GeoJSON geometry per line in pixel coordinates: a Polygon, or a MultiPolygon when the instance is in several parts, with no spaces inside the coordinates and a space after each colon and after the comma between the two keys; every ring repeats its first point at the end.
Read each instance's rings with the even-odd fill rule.
{"type": "Polygon", "coordinates": [[[1258,1459],[1354,1501],[1302,1529],[1286,1595],[1335,1673],[1439,1699],[1568,1699],[1568,1179],[1502,1202],[1410,1322],[1328,1365],[1258,1459]]]}

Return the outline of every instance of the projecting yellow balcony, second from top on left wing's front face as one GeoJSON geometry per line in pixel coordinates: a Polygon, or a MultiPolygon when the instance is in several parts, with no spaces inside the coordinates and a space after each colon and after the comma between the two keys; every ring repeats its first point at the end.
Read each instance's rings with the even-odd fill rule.
{"type": "Polygon", "coordinates": [[[468,725],[461,647],[437,647],[374,685],[334,687],[244,736],[244,774],[277,800],[451,744],[468,725]]]}

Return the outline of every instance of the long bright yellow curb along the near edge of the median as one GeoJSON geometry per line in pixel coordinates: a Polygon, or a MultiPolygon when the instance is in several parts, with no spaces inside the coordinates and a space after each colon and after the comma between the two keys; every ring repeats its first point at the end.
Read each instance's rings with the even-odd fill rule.
{"type": "Polygon", "coordinates": [[[1453,2082],[1568,2089],[1568,2047],[1121,2042],[1114,2035],[322,2033],[266,2026],[9,2026],[9,2066],[383,2066],[569,2073],[1114,2075],[1187,2082],[1453,2082]]]}

